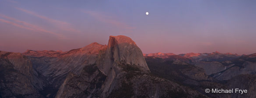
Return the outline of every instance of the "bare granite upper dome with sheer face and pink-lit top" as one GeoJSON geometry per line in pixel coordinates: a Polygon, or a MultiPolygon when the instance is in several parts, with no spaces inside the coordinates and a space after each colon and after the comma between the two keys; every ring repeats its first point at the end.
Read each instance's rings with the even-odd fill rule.
{"type": "Polygon", "coordinates": [[[104,53],[99,54],[99,58],[98,67],[104,74],[108,74],[112,66],[118,63],[135,65],[141,71],[149,72],[140,48],[127,36],[109,36],[108,46],[104,53]]]}

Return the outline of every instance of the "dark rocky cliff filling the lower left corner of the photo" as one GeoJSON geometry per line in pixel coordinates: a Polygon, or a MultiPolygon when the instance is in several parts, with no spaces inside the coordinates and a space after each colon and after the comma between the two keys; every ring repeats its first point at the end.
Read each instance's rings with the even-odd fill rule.
{"type": "Polygon", "coordinates": [[[44,82],[21,53],[0,51],[0,97],[40,98],[44,82]]]}

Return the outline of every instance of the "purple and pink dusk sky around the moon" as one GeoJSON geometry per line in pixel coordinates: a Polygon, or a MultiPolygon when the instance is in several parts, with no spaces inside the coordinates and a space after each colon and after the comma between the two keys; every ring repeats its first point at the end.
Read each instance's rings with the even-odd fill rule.
{"type": "Polygon", "coordinates": [[[0,0],[0,50],[68,51],[124,35],[143,53],[252,54],[255,5],[256,0],[0,0]]]}

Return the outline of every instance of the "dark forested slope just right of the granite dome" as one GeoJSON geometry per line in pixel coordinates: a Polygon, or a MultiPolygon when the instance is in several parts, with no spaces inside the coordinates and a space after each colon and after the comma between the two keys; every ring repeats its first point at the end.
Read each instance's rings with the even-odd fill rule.
{"type": "Polygon", "coordinates": [[[186,83],[191,80],[211,80],[202,68],[186,63],[186,61],[182,59],[147,57],[146,61],[152,74],[175,82],[186,83]]]}

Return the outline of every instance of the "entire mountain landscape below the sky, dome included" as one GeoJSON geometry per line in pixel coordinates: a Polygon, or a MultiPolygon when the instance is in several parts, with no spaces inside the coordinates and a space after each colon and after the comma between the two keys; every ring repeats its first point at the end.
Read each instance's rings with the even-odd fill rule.
{"type": "Polygon", "coordinates": [[[255,81],[256,53],[143,54],[127,36],[67,52],[0,51],[0,98],[255,98],[255,81]]]}

